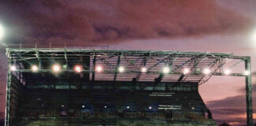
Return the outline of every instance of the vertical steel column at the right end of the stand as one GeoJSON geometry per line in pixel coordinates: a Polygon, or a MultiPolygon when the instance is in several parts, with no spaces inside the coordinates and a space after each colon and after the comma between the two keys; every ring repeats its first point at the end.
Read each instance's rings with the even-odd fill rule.
{"type": "MultiPolygon", "coordinates": [[[[251,73],[250,57],[245,59],[245,70],[251,73]]],[[[251,74],[246,76],[246,95],[247,95],[247,126],[253,126],[253,109],[252,109],[252,86],[251,74]]]]}

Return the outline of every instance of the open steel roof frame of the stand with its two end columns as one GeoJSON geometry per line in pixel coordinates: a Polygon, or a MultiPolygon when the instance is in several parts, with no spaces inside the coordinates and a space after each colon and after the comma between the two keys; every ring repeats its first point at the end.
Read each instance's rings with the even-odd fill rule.
{"type": "MultiPolygon", "coordinates": [[[[137,50],[71,50],[71,49],[6,49],[9,66],[16,65],[16,75],[25,84],[23,72],[32,72],[31,65],[38,65],[39,72],[52,72],[51,66],[58,63],[62,66],[62,72],[74,72],[71,65],[82,65],[82,73],[88,73],[89,81],[105,80],[113,81],[148,81],[148,82],[194,82],[199,85],[205,83],[212,76],[227,76],[224,74],[224,66],[230,60],[244,62],[244,70],[249,74],[230,73],[228,76],[245,76],[247,99],[247,125],[253,125],[252,111],[252,86],[250,75],[250,57],[234,56],[233,54],[177,52],[177,51],[137,51],[137,50]],[[88,58],[85,58],[88,57],[88,58]],[[102,72],[96,72],[96,66],[103,68],[102,72]],[[119,72],[119,67],[124,67],[124,72],[119,72]],[[141,72],[145,67],[146,72],[141,72]],[[167,67],[170,72],[163,73],[167,67]],[[183,69],[190,69],[189,74],[184,74],[183,69]],[[202,70],[208,68],[211,72],[207,75],[202,70]]],[[[10,90],[13,71],[9,69],[6,86],[6,126],[9,126],[10,90]]],[[[157,84],[157,83],[156,83],[157,84]]]]}

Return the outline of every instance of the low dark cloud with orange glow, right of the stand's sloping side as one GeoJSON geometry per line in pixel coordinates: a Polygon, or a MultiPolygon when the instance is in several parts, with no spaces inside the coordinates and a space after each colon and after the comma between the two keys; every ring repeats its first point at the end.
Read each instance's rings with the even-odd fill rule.
{"type": "MultiPolygon", "coordinates": [[[[256,84],[253,84],[253,99],[256,98],[256,84]]],[[[232,125],[246,125],[246,96],[245,88],[239,89],[244,95],[236,95],[220,100],[207,102],[207,107],[213,113],[213,117],[221,124],[223,122],[228,122],[232,125]]],[[[253,100],[253,112],[255,114],[256,101],[253,100]]],[[[256,121],[254,119],[254,121],[256,121]]]]}

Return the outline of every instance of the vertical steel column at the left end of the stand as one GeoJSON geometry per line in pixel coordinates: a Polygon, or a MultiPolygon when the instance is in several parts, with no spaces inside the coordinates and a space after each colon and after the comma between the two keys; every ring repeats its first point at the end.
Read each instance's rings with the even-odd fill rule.
{"type": "MultiPolygon", "coordinates": [[[[10,63],[9,63],[10,65],[10,63]]],[[[10,69],[7,72],[7,83],[6,83],[6,119],[5,126],[10,125],[10,98],[11,98],[11,84],[12,84],[12,72],[10,69]]]]}

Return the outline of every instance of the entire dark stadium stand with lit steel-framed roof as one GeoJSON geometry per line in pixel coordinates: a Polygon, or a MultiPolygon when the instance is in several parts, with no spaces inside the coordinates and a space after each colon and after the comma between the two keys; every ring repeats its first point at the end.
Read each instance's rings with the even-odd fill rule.
{"type": "Polygon", "coordinates": [[[250,57],[170,51],[7,49],[6,126],[216,125],[198,93],[211,76],[246,76],[250,57]],[[224,72],[230,60],[244,73],[224,72]]]}

